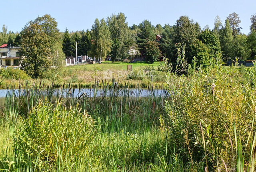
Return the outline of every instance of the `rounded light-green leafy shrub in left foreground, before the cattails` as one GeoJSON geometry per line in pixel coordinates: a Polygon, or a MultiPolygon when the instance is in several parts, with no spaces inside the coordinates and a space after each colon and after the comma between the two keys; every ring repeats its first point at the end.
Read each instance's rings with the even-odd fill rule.
{"type": "Polygon", "coordinates": [[[41,166],[81,157],[96,135],[94,121],[86,112],[80,112],[78,106],[64,108],[60,102],[56,107],[40,102],[21,118],[18,128],[14,138],[17,161],[37,161],[41,166]]]}

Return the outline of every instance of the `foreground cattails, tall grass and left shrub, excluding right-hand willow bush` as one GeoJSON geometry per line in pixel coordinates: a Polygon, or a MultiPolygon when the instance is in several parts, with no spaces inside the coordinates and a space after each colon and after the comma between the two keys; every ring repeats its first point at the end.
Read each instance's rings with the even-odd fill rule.
{"type": "Polygon", "coordinates": [[[11,171],[158,171],[173,169],[170,165],[184,169],[166,142],[166,131],[158,128],[167,91],[156,94],[152,84],[148,97],[143,97],[141,87],[134,90],[128,83],[121,88],[115,80],[111,84],[96,80],[94,85],[91,95],[71,85],[56,89],[41,83],[8,90],[0,132],[12,135],[1,137],[8,149],[2,148],[0,167],[11,171]],[[82,123],[84,116],[88,118],[82,123]],[[92,128],[86,129],[86,124],[92,128]]]}

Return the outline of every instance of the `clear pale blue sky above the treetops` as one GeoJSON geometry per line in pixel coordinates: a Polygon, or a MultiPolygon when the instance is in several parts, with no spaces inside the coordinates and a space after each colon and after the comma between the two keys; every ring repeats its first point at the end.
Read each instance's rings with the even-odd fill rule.
{"type": "Polygon", "coordinates": [[[224,20],[236,12],[241,20],[241,31],[249,33],[250,18],[256,13],[256,0],[1,0],[0,27],[19,32],[24,25],[37,16],[50,14],[58,22],[60,31],[86,30],[96,18],[102,19],[112,13],[123,12],[129,26],[148,19],[156,24],[174,25],[183,15],[213,28],[218,15],[224,20]]]}

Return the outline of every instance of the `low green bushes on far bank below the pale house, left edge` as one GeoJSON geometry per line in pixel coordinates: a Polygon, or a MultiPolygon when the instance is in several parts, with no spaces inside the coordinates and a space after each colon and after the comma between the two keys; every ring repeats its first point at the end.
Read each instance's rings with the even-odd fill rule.
{"type": "Polygon", "coordinates": [[[14,68],[7,68],[7,69],[0,69],[0,76],[6,79],[15,79],[15,80],[26,80],[29,79],[28,74],[26,74],[23,70],[14,69],[14,68]]]}

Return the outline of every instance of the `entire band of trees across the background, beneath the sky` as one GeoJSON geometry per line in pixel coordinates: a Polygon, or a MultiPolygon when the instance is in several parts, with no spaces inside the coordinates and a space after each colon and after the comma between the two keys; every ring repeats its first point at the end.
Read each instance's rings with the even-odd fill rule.
{"type": "Polygon", "coordinates": [[[65,57],[75,56],[76,42],[78,56],[113,62],[136,57],[154,62],[165,57],[175,63],[177,49],[184,48],[189,63],[196,57],[198,64],[208,66],[210,59],[217,56],[225,60],[255,60],[256,14],[250,20],[250,33],[246,35],[241,32],[241,21],[235,12],[227,16],[224,24],[216,16],[213,29],[201,28],[188,16],[181,16],[172,26],[153,26],[149,20],[128,26],[125,14],[120,12],[101,20],[96,18],[90,30],[70,32],[66,28],[60,32],[56,20],[46,14],[29,21],[19,33],[8,32],[4,25],[0,44],[20,46],[22,66],[35,78],[52,66],[61,66],[65,57]]]}

